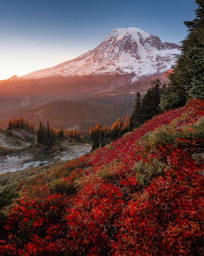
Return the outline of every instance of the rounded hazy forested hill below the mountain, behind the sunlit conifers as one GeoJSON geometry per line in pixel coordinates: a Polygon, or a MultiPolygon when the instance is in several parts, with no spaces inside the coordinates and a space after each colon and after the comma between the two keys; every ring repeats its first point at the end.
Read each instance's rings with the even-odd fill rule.
{"type": "Polygon", "coordinates": [[[56,128],[89,130],[96,123],[112,125],[119,117],[125,120],[127,113],[132,112],[132,102],[96,106],[80,102],[57,101],[36,109],[27,118],[35,124],[48,121],[56,128]]]}

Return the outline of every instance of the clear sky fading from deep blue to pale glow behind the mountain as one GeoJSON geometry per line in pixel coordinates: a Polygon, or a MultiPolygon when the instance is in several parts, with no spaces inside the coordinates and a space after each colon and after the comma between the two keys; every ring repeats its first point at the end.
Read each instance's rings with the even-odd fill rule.
{"type": "Polygon", "coordinates": [[[0,0],[0,79],[67,61],[116,28],[180,42],[194,0],[0,0]]]}

